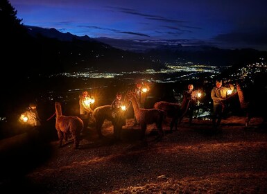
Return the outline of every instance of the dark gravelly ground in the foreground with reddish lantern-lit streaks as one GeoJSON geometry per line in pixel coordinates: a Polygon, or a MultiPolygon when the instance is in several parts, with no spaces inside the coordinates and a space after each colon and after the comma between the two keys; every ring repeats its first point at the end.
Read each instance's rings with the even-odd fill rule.
{"type": "Polygon", "coordinates": [[[58,148],[54,139],[4,152],[1,193],[267,193],[267,128],[261,121],[252,118],[244,127],[243,116],[231,116],[214,132],[210,120],[189,125],[184,118],[170,133],[168,119],[162,141],[155,125],[141,141],[133,119],[123,126],[121,141],[112,139],[109,121],[104,139],[90,125],[78,150],[72,140],[58,148]]]}

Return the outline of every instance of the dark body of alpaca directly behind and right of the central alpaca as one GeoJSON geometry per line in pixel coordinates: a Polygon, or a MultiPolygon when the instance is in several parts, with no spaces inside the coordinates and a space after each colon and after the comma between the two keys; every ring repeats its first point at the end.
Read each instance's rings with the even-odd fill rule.
{"type": "Polygon", "coordinates": [[[180,116],[182,115],[180,104],[160,101],[155,103],[154,108],[164,110],[166,112],[166,116],[171,118],[170,132],[173,132],[173,126],[175,126],[175,130],[177,130],[178,118],[180,118],[180,116]]]}

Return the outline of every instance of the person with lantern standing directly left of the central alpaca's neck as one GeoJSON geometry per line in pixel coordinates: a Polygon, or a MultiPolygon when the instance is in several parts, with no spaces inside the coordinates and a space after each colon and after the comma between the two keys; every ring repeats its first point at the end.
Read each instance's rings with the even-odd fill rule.
{"type": "Polygon", "coordinates": [[[122,126],[126,124],[126,118],[124,116],[123,102],[121,100],[121,92],[117,92],[116,98],[111,104],[112,125],[114,127],[114,138],[119,140],[121,135],[122,126]]]}

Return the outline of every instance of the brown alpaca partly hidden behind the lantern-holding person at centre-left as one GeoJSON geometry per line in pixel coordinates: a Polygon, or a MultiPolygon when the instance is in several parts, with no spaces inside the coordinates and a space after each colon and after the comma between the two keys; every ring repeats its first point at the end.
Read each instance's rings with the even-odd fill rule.
{"type": "Polygon", "coordinates": [[[108,121],[112,121],[111,116],[111,105],[103,105],[100,107],[96,107],[93,112],[94,122],[96,123],[96,131],[98,133],[99,138],[103,137],[101,132],[101,127],[107,119],[108,121]]]}

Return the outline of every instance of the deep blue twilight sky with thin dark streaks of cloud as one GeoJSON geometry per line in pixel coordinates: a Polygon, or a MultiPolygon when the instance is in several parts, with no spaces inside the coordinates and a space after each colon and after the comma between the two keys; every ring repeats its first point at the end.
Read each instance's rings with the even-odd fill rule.
{"type": "Polygon", "coordinates": [[[78,36],[267,51],[266,0],[10,0],[22,24],[78,36]]]}

